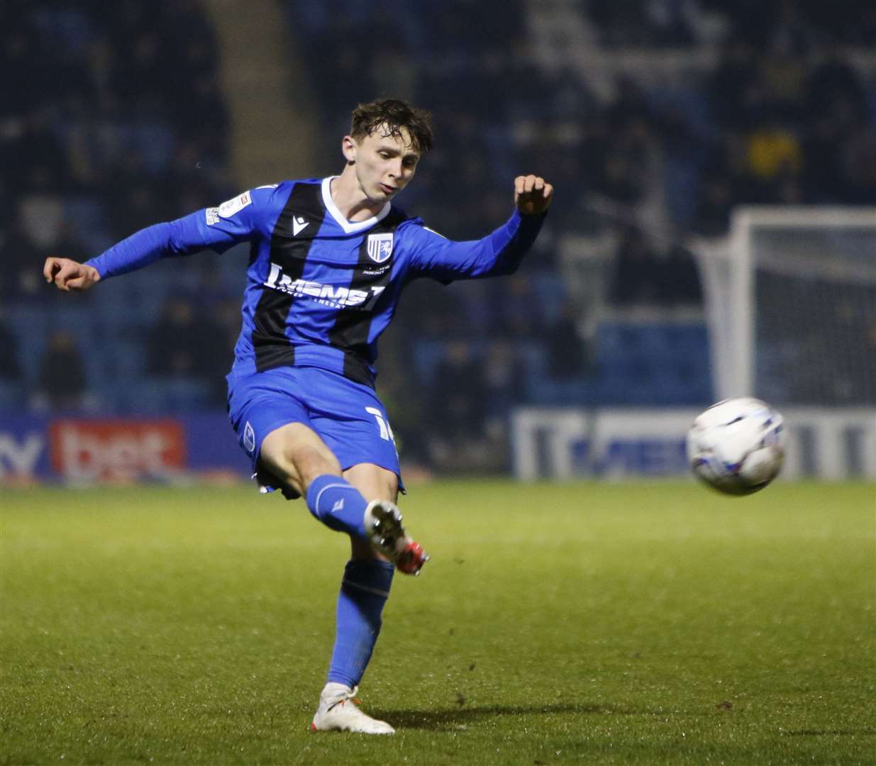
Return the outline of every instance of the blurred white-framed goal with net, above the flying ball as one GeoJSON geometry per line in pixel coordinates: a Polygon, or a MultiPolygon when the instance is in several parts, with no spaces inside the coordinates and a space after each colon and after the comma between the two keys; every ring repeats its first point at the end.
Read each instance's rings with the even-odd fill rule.
{"type": "Polygon", "coordinates": [[[720,398],[876,405],[876,209],[741,208],[691,250],[720,398]]]}

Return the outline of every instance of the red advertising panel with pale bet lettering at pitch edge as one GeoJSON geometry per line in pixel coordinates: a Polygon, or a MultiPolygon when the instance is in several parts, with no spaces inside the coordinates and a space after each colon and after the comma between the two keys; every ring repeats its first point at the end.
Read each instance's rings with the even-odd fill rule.
{"type": "Polygon", "coordinates": [[[133,481],[186,464],[185,437],[173,420],[59,420],[49,425],[52,467],[68,481],[133,481]]]}

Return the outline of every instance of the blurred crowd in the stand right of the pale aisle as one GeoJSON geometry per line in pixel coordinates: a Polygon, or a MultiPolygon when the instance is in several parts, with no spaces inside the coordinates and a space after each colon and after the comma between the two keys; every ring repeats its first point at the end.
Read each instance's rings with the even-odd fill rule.
{"type": "Polygon", "coordinates": [[[876,204],[876,83],[848,55],[876,44],[876,14],[860,4],[541,4],[564,5],[579,17],[566,26],[583,24],[606,56],[711,52],[707,67],[656,81],[647,67],[625,70],[602,90],[574,56],[556,54],[543,66],[531,30],[539,4],[504,3],[487,28],[482,4],[468,0],[416,11],[349,3],[342,25],[322,4],[287,5],[306,59],[318,62],[324,120],[336,126],[328,152],[363,78],[372,93],[434,111],[434,151],[401,201],[432,228],[482,236],[509,215],[510,181],[520,172],[546,174],[557,188],[547,230],[517,275],[415,284],[407,303],[419,310],[403,304],[390,330],[399,348],[387,358],[385,344],[380,381],[390,398],[407,402],[397,412],[412,425],[396,414],[396,431],[425,440],[413,449],[433,465],[487,465],[481,453],[505,461],[505,415],[515,402],[710,400],[704,332],[610,323],[586,332],[590,307],[575,301],[559,262],[563,235],[610,235],[611,316],[641,307],[659,316],[702,306],[683,243],[690,234],[724,235],[734,206],[876,204]],[[404,33],[375,56],[373,40],[389,18],[404,33]],[[320,55],[341,40],[342,56],[320,55]],[[683,374],[671,379],[673,369],[683,374]],[[430,418],[432,428],[413,427],[430,418]]]}

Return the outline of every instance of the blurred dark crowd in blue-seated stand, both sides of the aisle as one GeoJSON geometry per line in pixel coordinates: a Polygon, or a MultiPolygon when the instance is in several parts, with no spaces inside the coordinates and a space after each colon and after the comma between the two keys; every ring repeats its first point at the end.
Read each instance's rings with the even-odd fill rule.
{"type": "MultiPolygon", "coordinates": [[[[606,349],[641,357],[667,338],[586,331],[589,307],[563,272],[564,236],[608,235],[612,316],[696,311],[702,289],[682,243],[723,235],[734,206],[876,204],[876,83],[852,55],[876,46],[870,4],[506,0],[486,27],[474,0],[286,0],[286,10],[326,137],[314,166],[341,161],[352,106],[399,96],[434,112],[434,151],[399,204],[436,231],[477,238],[503,223],[520,172],[557,189],[518,274],[414,283],[402,299],[378,382],[409,460],[504,469],[507,415],[521,402],[708,400],[706,361],[681,375],[677,358],[653,353],[609,369],[606,349]],[[597,88],[574,55],[551,62],[540,50],[533,18],[548,6],[589,32],[580,44],[605,60],[708,51],[710,63],[658,79],[647,67],[609,68],[609,87],[597,88]]],[[[61,301],[39,279],[46,255],[85,259],[238,191],[201,5],[9,0],[0,38],[0,394],[44,409],[223,407],[239,260],[189,259],[173,278],[159,265],[99,299],[61,301]]],[[[283,176],[277,168],[264,182],[283,176]]],[[[708,357],[704,332],[665,347],[708,357]]]]}

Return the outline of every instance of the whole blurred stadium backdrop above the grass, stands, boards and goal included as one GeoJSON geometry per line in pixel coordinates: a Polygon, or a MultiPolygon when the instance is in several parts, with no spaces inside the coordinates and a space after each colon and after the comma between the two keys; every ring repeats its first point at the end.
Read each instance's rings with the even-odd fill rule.
{"type": "Polygon", "coordinates": [[[8,0],[0,30],[5,479],[244,476],[246,248],[84,295],[43,260],[337,173],[380,95],[434,112],[398,202],[446,236],[503,223],[515,174],[556,188],[519,273],[415,283],[385,335],[412,477],[682,474],[740,394],[785,412],[786,477],[876,473],[872,4],[8,0]]]}

